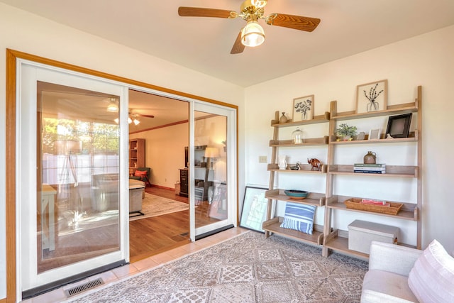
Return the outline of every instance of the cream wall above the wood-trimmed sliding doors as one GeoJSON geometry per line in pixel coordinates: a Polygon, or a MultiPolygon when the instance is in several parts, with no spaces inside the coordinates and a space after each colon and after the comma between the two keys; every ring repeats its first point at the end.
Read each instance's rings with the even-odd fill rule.
{"type": "MultiPolygon", "coordinates": [[[[31,13],[0,4],[0,83],[6,83],[6,48],[180,92],[236,104],[243,115],[243,89],[123,45],[76,31],[31,13]]],[[[5,86],[0,85],[0,222],[5,222],[5,86]]],[[[240,126],[242,133],[243,126],[240,126]]],[[[243,148],[240,137],[240,148],[243,148]]],[[[243,157],[240,156],[240,161],[243,157]]],[[[240,165],[240,175],[244,165],[240,165]]],[[[240,178],[242,182],[243,177],[240,178]]],[[[172,180],[175,181],[175,180],[172,180]]],[[[240,183],[241,184],[241,183],[240,183]]],[[[6,236],[0,228],[0,299],[6,297],[6,236]]]]}

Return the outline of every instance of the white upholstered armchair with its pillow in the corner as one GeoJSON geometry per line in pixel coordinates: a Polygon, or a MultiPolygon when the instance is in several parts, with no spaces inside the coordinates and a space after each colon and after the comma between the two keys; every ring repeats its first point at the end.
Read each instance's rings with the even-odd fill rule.
{"type": "Polygon", "coordinates": [[[454,258],[436,240],[426,250],[372,241],[361,302],[454,302],[454,258]]]}

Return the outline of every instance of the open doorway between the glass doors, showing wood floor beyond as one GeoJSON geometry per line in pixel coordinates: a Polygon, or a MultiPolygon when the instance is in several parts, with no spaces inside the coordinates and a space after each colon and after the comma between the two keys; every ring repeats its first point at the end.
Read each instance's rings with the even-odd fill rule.
{"type": "Polygon", "coordinates": [[[184,147],[189,144],[189,101],[143,89],[130,89],[128,94],[129,112],[139,121],[129,124],[129,140],[143,144],[143,150],[141,146],[131,150],[130,158],[135,157],[138,165],[134,167],[130,160],[128,169],[131,175],[140,166],[149,172],[148,180],[142,179],[146,182],[145,215],[131,214],[129,223],[130,261],[135,262],[189,243],[189,198],[180,196],[178,190],[179,172],[185,167],[184,147]],[[155,203],[159,209],[148,213],[148,206],[155,203]],[[185,210],[179,211],[182,205],[185,210]]]}

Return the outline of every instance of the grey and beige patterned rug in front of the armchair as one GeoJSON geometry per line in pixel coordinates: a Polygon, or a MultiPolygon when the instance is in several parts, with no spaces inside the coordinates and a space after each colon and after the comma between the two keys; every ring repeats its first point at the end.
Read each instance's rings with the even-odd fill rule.
{"type": "Polygon", "coordinates": [[[71,302],[360,302],[367,262],[249,231],[71,302]]]}

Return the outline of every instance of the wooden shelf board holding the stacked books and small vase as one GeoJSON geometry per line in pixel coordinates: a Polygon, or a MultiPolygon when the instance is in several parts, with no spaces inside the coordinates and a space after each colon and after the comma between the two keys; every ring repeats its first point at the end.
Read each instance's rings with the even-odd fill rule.
{"type": "Polygon", "coordinates": [[[375,177],[418,177],[418,167],[412,165],[387,165],[385,174],[353,172],[353,165],[328,165],[328,173],[332,175],[355,175],[375,177]]]}

